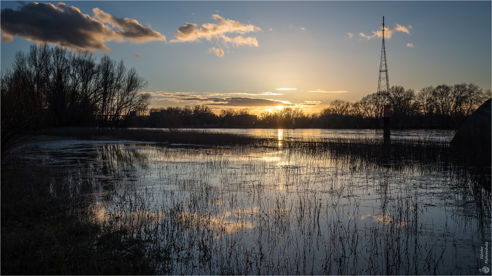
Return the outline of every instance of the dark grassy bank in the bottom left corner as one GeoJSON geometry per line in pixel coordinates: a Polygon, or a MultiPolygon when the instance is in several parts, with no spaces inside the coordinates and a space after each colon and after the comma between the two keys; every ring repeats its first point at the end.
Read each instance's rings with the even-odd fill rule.
{"type": "Polygon", "coordinates": [[[1,167],[4,275],[154,275],[141,239],[90,220],[87,170],[16,158],[1,167]]]}

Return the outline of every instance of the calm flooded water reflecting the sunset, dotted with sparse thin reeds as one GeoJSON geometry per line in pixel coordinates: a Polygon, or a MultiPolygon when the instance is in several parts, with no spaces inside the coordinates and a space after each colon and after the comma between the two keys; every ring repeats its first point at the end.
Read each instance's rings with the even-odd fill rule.
{"type": "MultiPolygon", "coordinates": [[[[338,135],[347,146],[357,131],[261,131],[247,134],[277,137],[277,145],[65,139],[21,150],[33,166],[70,171],[74,187],[89,183],[85,218],[138,237],[159,274],[484,275],[479,269],[490,268],[481,258],[491,243],[483,178],[431,151],[376,160],[286,139],[338,135]]],[[[394,133],[436,152],[454,134],[394,133]]],[[[363,135],[393,146],[374,131],[363,135]]]]}

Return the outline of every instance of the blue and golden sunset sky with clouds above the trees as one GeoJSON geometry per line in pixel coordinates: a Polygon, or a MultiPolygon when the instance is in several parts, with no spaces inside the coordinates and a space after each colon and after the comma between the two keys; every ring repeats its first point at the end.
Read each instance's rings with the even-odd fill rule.
{"type": "Polygon", "coordinates": [[[389,83],[491,88],[491,1],[1,1],[1,69],[48,41],[135,67],[151,108],[306,113],[389,83]],[[286,89],[290,88],[290,89],[286,89]]]}

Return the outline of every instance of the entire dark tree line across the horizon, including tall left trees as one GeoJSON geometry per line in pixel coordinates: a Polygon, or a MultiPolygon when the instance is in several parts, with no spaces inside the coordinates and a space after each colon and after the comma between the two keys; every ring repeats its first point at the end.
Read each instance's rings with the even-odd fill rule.
{"type": "Polygon", "coordinates": [[[26,131],[49,127],[295,127],[379,128],[383,103],[392,109],[392,128],[458,129],[486,99],[473,83],[428,86],[415,92],[392,86],[388,98],[369,94],[359,101],[335,100],[317,113],[286,107],[262,112],[221,110],[205,105],[148,109],[147,82],[104,55],[69,52],[47,43],[16,53],[11,69],[1,72],[1,148],[19,142],[26,131]],[[149,113],[150,111],[150,113],[149,113]],[[134,120],[133,115],[149,115],[134,120]],[[133,117],[133,120],[132,120],[133,117]],[[255,122],[255,124],[252,124],[255,122]]]}

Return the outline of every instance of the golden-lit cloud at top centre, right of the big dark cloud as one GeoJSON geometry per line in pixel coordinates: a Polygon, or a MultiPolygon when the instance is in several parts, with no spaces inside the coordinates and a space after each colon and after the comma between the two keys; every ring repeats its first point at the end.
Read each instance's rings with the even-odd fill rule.
{"type": "Polygon", "coordinates": [[[226,33],[240,33],[245,34],[247,32],[254,32],[261,30],[251,24],[245,25],[240,22],[224,19],[223,17],[214,14],[212,18],[218,23],[205,23],[199,27],[197,24],[186,23],[174,32],[175,39],[171,42],[192,42],[199,41],[200,39],[206,39],[211,41],[213,38],[223,42],[226,47],[228,43],[232,46],[248,45],[258,47],[258,41],[255,37],[243,37],[238,35],[231,38],[226,35],[226,33]]]}

